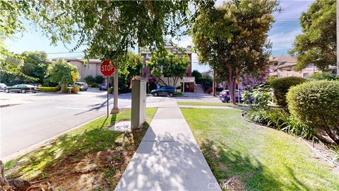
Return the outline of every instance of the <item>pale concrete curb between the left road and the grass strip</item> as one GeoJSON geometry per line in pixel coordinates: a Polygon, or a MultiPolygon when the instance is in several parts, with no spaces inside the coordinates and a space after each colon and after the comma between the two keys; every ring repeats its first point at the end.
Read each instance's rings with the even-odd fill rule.
{"type": "Polygon", "coordinates": [[[57,137],[59,137],[59,136],[61,136],[63,134],[66,134],[67,132],[70,132],[73,129],[78,129],[79,127],[82,127],[83,125],[86,125],[86,124],[88,124],[90,122],[93,122],[93,121],[95,121],[95,120],[97,120],[97,119],[99,119],[101,117],[104,117],[105,115],[107,115],[107,114],[102,114],[102,115],[100,115],[98,117],[95,117],[92,120],[89,120],[88,122],[84,122],[81,125],[77,125],[76,127],[72,127],[71,129],[67,129],[64,132],[60,132],[59,134],[56,134],[56,135],[54,135],[53,137],[51,137],[49,139],[45,139],[44,141],[40,141],[40,142],[38,142],[36,144],[28,146],[25,149],[21,149],[20,151],[16,151],[16,153],[14,153],[14,154],[10,154],[10,155],[8,155],[8,156],[6,156],[4,158],[0,158],[0,161],[3,161],[4,163],[6,163],[8,161],[11,161],[13,158],[17,158],[19,156],[23,156],[24,154],[28,154],[30,151],[33,151],[33,150],[38,149],[38,148],[40,148],[40,147],[42,147],[42,146],[44,146],[46,144],[49,144],[49,141],[52,141],[53,139],[56,139],[57,137]]]}

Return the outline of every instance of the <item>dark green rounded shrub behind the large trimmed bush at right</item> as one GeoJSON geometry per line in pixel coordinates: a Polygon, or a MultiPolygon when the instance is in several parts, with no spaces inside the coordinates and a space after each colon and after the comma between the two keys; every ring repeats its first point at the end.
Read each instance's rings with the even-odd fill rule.
{"type": "Polygon", "coordinates": [[[271,81],[270,86],[274,90],[275,102],[280,106],[287,107],[286,93],[290,87],[304,83],[305,81],[307,80],[300,77],[286,77],[271,81]]]}

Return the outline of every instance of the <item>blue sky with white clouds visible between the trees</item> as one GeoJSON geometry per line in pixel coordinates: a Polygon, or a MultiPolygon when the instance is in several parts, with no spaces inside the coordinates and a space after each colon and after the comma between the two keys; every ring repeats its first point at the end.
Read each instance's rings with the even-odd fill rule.
{"type": "MultiPolygon", "coordinates": [[[[288,50],[291,49],[295,37],[302,33],[299,25],[299,16],[303,11],[307,11],[313,0],[295,0],[279,1],[283,11],[275,13],[275,23],[268,32],[270,42],[272,42],[272,54],[274,57],[284,54],[288,56],[288,50]]],[[[221,5],[223,0],[218,0],[216,6],[221,5]]],[[[6,46],[11,52],[22,53],[24,51],[44,51],[47,52],[49,59],[55,57],[83,57],[81,50],[70,52],[76,45],[72,42],[70,45],[59,43],[57,46],[50,45],[50,40],[45,37],[39,28],[27,24],[27,30],[23,33],[14,35],[5,41],[6,46]]],[[[186,47],[192,45],[191,37],[184,36],[178,42],[180,46],[186,47]]],[[[208,66],[198,64],[198,57],[192,54],[192,69],[198,71],[207,71],[208,66]]]]}

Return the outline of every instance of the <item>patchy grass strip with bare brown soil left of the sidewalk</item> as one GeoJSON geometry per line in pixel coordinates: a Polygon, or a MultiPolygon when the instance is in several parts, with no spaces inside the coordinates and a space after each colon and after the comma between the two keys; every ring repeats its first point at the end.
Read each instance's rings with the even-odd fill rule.
{"type": "Polygon", "coordinates": [[[108,129],[116,122],[130,120],[131,110],[74,129],[40,149],[8,161],[6,178],[49,181],[57,190],[113,190],[156,110],[147,108],[147,122],[138,132],[108,129]]]}

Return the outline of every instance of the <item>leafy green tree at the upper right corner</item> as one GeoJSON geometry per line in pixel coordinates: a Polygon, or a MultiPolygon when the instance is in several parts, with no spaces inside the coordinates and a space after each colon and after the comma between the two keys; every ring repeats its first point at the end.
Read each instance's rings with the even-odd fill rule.
{"type": "Polygon", "coordinates": [[[297,57],[296,71],[310,63],[321,70],[335,66],[336,20],[335,0],[314,1],[309,10],[300,16],[302,34],[295,38],[290,54],[297,57]]]}

